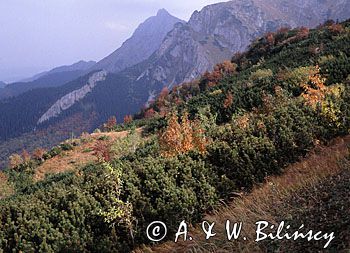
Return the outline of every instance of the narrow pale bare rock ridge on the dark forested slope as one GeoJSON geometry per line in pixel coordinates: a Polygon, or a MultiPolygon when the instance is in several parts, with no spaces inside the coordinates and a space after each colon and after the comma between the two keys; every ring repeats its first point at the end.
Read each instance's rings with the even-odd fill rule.
{"type": "Polygon", "coordinates": [[[50,109],[40,117],[37,124],[41,124],[51,118],[57,117],[62,111],[72,107],[76,102],[82,100],[89,92],[91,92],[98,82],[104,81],[106,76],[106,71],[100,71],[92,74],[87,84],[85,84],[83,87],[74,90],[57,100],[50,107],[50,109]]]}

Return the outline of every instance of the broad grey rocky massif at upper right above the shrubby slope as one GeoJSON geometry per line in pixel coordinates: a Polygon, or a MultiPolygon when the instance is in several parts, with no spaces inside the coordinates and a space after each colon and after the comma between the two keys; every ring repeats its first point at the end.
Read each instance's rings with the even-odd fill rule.
{"type": "Polygon", "coordinates": [[[137,82],[152,90],[159,83],[171,87],[193,80],[266,32],[344,20],[349,5],[346,0],[233,0],[206,6],[168,33],[137,82]]]}

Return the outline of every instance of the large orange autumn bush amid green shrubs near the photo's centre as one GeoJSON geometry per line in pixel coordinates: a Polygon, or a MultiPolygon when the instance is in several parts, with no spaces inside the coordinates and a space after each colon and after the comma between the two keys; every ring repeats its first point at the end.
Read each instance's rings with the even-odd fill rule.
{"type": "Polygon", "coordinates": [[[187,112],[183,113],[181,124],[176,113],[172,113],[167,128],[159,135],[159,144],[162,155],[172,157],[194,149],[205,152],[207,138],[200,122],[189,120],[187,112]]]}

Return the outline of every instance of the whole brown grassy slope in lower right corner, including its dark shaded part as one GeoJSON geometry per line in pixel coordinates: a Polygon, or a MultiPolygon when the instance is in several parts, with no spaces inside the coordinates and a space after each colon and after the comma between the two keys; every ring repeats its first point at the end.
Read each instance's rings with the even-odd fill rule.
{"type": "MultiPolygon", "coordinates": [[[[316,231],[335,232],[328,250],[350,249],[350,167],[339,163],[349,155],[350,136],[333,140],[330,146],[315,148],[306,158],[290,165],[285,173],[271,177],[252,193],[207,215],[217,231],[225,231],[225,221],[242,221],[247,241],[228,242],[224,233],[206,241],[200,226],[190,235],[191,242],[168,242],[135,252],[316,252],[324,242],[280,241],[257,244],[255,222],[278,224],[284,220],[292,228],[305,224],[316,231]]],[[[293,231],[293,230],[292,230],[293,231]]]]}

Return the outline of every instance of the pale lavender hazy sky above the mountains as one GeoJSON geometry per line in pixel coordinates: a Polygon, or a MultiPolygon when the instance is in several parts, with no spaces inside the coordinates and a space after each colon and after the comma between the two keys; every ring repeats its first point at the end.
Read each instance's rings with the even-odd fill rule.
{"type": "Polygon", "coordinates": [[[188,20],[215,0],[0,0],[0,80],[100,60],[158,9],[188,20]]]}

